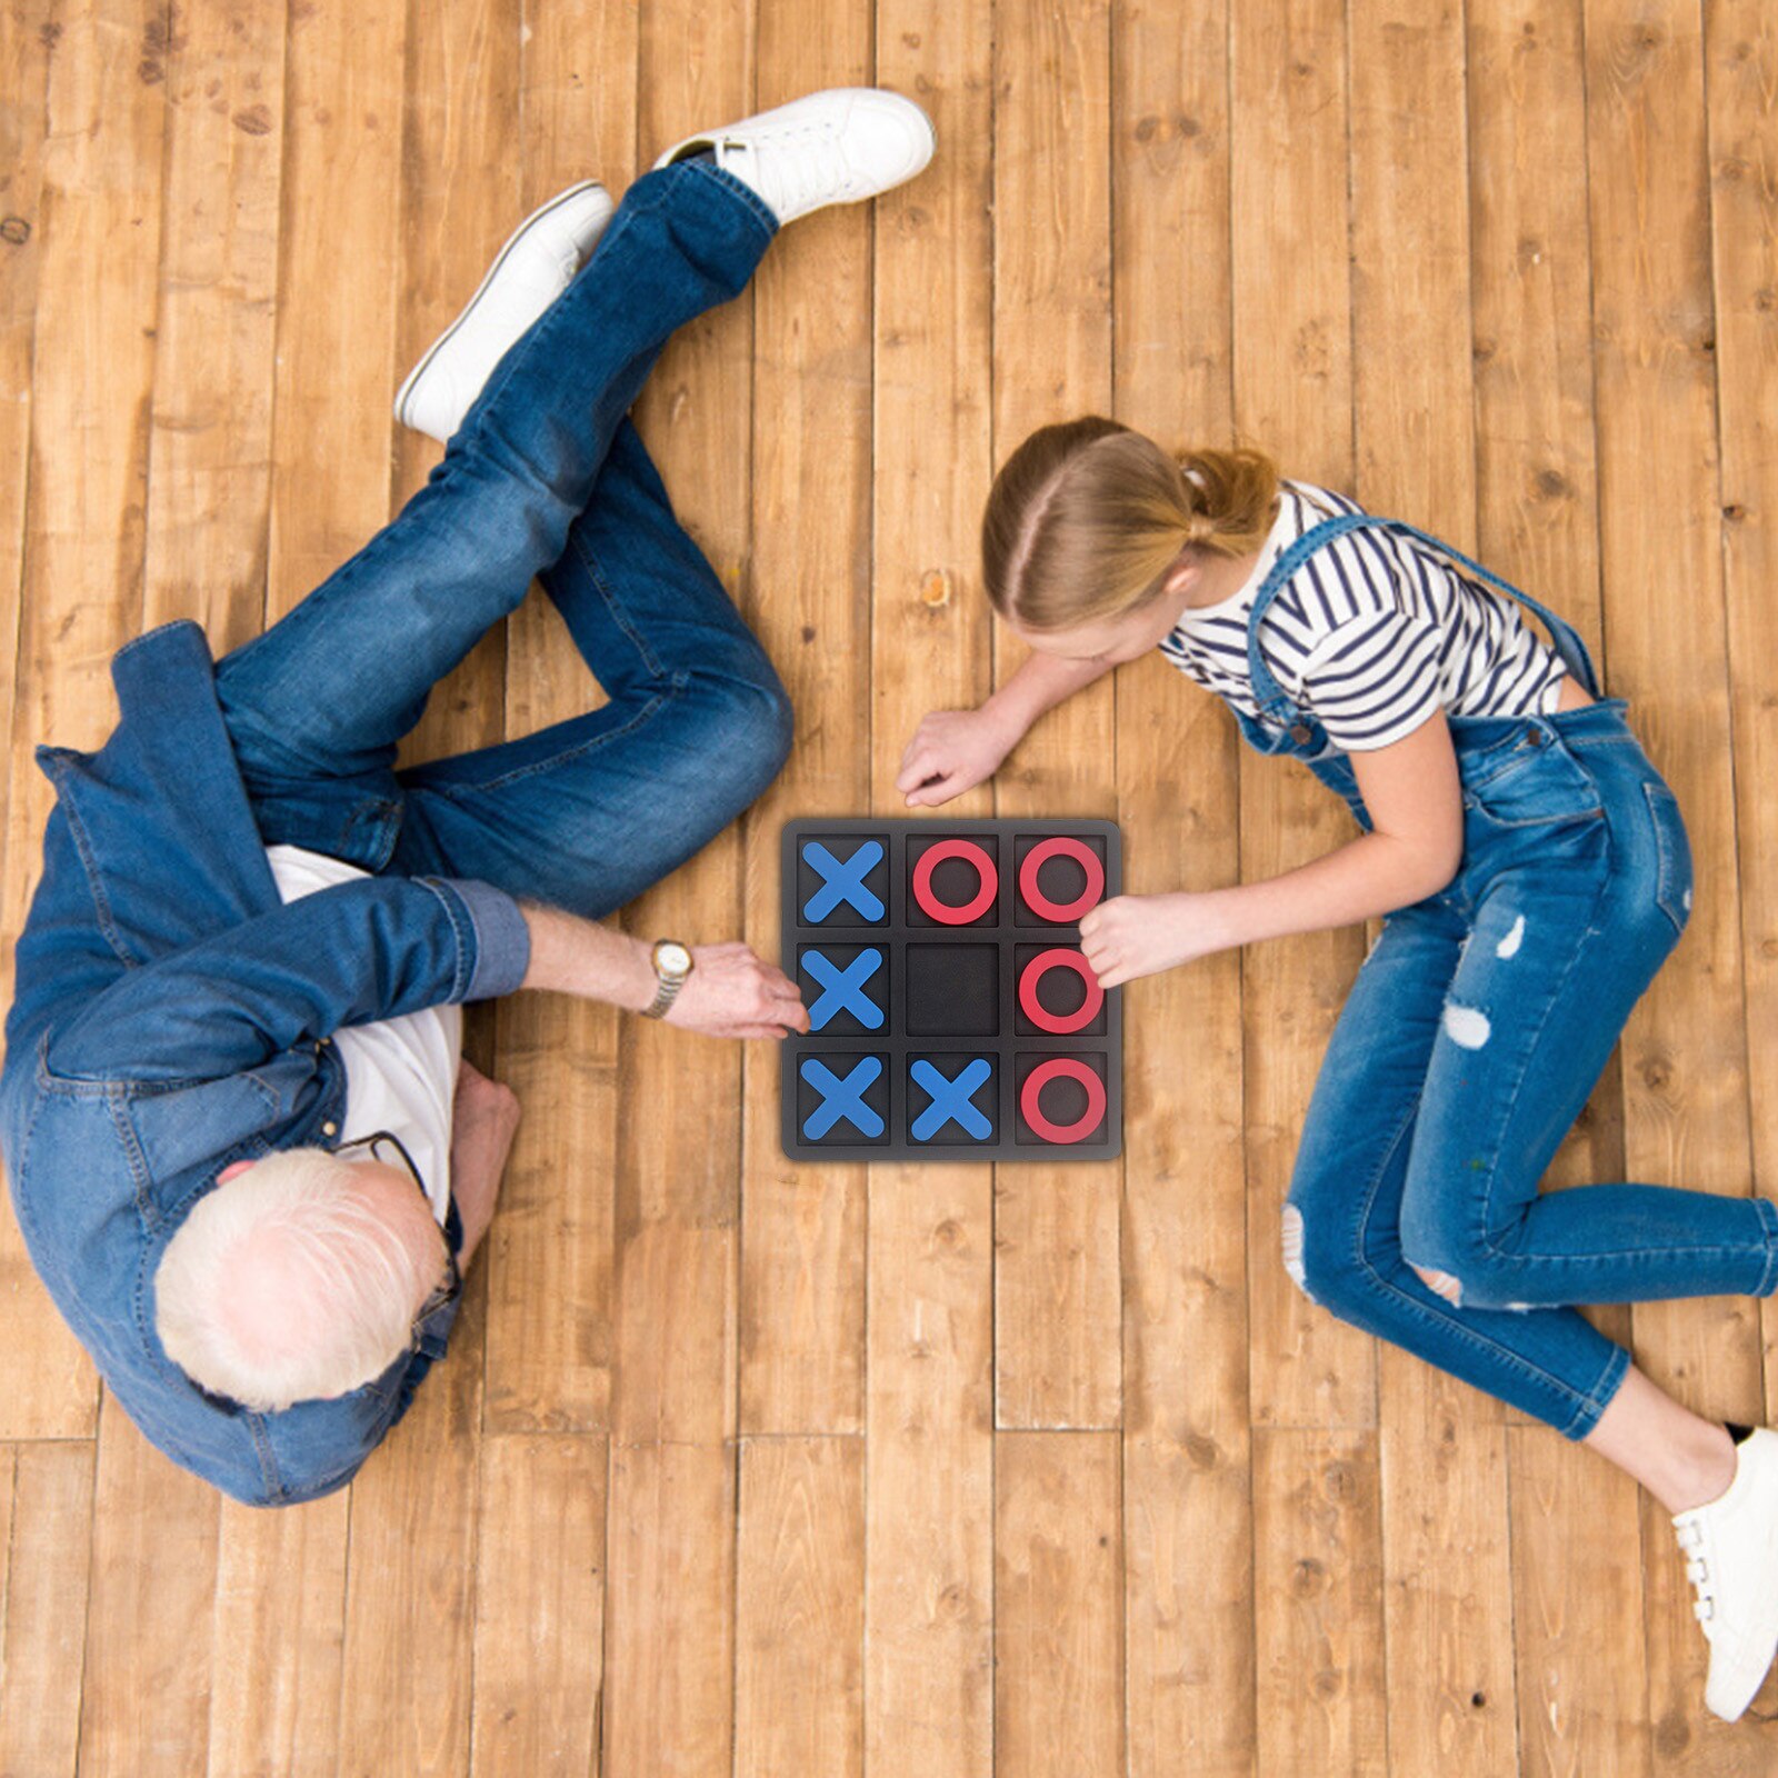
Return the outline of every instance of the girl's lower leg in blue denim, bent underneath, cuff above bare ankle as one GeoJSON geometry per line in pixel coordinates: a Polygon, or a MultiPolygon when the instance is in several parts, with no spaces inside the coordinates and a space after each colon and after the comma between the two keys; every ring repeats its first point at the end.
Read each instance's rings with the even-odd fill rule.
{"type": "Polygon", "coordinates": [[[1403,1257],[1408,1154],[1462,946],[1462,921],[1426,903],[1392,914],[1358,971],[1303,1125],[1285,1266],[1342,1321],[1584,1438],[1629,1355],[1574,1309],[1458,1309],[1403,1257]]]}

